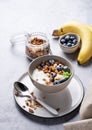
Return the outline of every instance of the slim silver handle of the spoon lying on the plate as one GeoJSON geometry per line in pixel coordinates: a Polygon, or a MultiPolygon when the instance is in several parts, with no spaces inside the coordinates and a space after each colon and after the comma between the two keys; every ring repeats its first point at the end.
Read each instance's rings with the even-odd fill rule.
{"type": "Polygon", "coordinates": [[[44,103],[43,101],[39,100],[39,99],[35,99],[38,103],[40,103],[46,110],[48,110],[50,113],[54,114],[54,115],[58,115],[59,113],[52,108],[51,106],[49,106],[48,104],[44,103]]]}

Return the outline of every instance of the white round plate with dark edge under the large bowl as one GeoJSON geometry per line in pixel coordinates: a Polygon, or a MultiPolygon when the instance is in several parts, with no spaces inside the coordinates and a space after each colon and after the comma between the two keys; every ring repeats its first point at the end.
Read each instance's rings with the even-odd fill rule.
{"type": "MultiPolygon", "coordinates": [[[[81,103],[83,96],[84,96],[84,88],[80,81],[80,79],[74,75],[72,78],[70,84],[62,91],[58,93],[51,93],[46,94],[41,91],[39,91],[31,82],[29,76],[27,73],[24,73],[18,81],[24,83],[27,85],[27,87],[30,89],[30,92],[34,92],[34,95],[36,97],[40,98],[44,102],[46,102],[48,105],[52,106],[55,109],[59,110],[59,115],[55,116],[51,113],[49,113],[47,110],[45,110],[43,107],[37,108],[34,110],[34,113],[29,112],[28,106],[25,104],[25,99],[23,97],[18,97],[14,94],[14,98],[16,103],[19,105],[19,107],[24,110],[27,114],[31,114],[37,117],[43,117],[43,118],[55,118],[55,117],[62,117],[64,115],[69,114],[70,112],[74,111],[81,103]],[[45,98],[43,98],[45,97],[45,98]],[[25,108],[23,106],[26,106],[25,108]]],[[[14,90],[15,92],[15,90],[14,90]]]]}

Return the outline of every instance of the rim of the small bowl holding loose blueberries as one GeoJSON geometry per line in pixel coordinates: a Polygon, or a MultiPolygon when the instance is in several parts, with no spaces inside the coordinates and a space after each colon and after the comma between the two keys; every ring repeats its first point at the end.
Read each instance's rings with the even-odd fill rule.
{"type": "Polygon", "coordinates": [[[68,48],[68,49],[75,48],[76,46],[79,45],[79,43],[80,43],[80,36],[79,36],[78,34],[76,34],[76,33],[72,33],[72,32],[70,32],[70,33],[66,33],[66,34],[60,36],[60,38],[59,38],[59,44],[60,44],[60,46],[62,46],[62,47],[64,47],[64,48],[68,48]],[[64,36],[66,36],[66,35],[71,35],[71,34],[75,35],[75,36],[77,37],[77,39],[78,39],[76,45],[71,46],[71,47],[64,46],[64,45],[60,42],[60,40],[61,40],[64,36]]]}

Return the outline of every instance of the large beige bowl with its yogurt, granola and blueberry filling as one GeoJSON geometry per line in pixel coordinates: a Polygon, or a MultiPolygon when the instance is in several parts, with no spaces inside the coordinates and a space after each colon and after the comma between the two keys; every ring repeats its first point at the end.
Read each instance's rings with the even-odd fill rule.
{"type": "Polygon", "coordinates": [[[69,84],[74,75],[74,69],[71,63],[63,57],[45,55],[30,63],[28,74],[39,90],[55,93],[69,84]]]}

